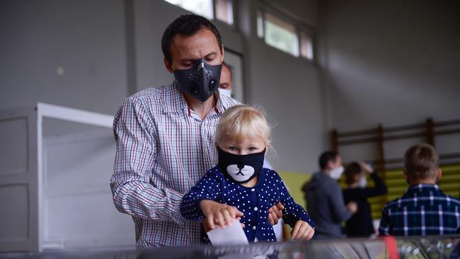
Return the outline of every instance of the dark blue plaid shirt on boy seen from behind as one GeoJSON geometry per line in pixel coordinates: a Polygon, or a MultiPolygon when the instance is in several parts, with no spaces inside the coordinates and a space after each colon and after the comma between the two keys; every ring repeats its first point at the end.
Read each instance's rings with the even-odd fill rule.
{"type": "Polygon", "coordinates": [[[385,205],[379,234],[424,236],[460,234],[460,201],[437,185],[418,184],[385,205]]]}

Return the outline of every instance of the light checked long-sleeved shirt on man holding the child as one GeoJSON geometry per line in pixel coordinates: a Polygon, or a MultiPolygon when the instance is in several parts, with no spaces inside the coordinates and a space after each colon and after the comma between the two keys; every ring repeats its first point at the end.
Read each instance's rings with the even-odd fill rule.
{"type": "Polygon", "coordinates": [[[200,224],[185,221],[180,201],[217,161],[217,122],[238,103],[215,96],[204,120],[188,108],[176,84],[136,93],[117,111],[110,187],[115,207],[134,219],[138,247],[200,243],[200,224]]]}

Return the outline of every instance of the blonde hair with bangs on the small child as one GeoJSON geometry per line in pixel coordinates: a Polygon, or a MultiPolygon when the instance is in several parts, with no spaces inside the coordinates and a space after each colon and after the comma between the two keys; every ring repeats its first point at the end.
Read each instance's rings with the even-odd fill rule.
{"type": "Polygon", "coordinates": [[[270,145],[270,125],[259,110],[249,105],[236,105],[225,111],[216,127],[216,143],[224,137],[241,142],[246,137],[260,137],[265,145],[270,145]]]}

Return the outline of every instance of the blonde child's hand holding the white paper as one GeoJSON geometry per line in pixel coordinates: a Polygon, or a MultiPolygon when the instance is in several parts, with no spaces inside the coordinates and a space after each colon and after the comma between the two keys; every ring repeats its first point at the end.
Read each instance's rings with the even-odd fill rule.
{"type": "Polygon", "coordinates": [[[224,229],[226,226],[230,226],[231,222],[235,219],[241,219],[241,217],[243,217],[243,212],[240,212],[236,207],[224,205],[212,200],[202,200],[200,202],[200,208],[206,217],[202,220],[205,230],[214,229],[216,225],[224,229]]]}

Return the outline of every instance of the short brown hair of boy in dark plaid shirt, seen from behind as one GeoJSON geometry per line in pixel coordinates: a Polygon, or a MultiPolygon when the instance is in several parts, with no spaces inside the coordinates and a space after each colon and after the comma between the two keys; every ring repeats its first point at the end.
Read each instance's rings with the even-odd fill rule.
{"type": "Polygon", "coordinates": [[[404,154],[404,167],[410,179],[433,178],[439,169],[439,156],[429,144],[416,144],[404,154]]]}

